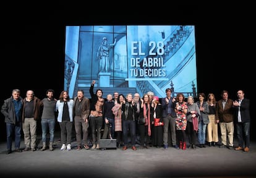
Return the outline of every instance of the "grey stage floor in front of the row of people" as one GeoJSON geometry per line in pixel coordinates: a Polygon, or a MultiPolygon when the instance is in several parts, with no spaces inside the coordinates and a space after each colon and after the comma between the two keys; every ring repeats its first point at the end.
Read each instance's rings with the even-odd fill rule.
{"type": "MultiPolygon", "coordinates": [[[[56,135],[54,151],[25,151],[6,155],[0,143],[1,177],[256,177],[256,143],[250,151],[208,147],[150,147],[134,151],[120,149],[60,151],[56,135]]],[[[234,145],[237,141],[234,140],[234,145]]],[[[14,146],[14,144],[13,144],[14,146]]],[[[25,148],[22,140],[20,148],[25,148]]]]}

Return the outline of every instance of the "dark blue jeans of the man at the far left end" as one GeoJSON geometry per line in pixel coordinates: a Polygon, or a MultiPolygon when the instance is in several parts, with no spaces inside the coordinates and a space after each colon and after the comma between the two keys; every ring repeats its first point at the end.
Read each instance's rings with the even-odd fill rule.
{"type": "Polygon", "coordinates": [[[16,124],[6,123],[7,150],[12,150],[12,137],[15,134],[15,149],[20,148],[22,122],[16,124]]]}

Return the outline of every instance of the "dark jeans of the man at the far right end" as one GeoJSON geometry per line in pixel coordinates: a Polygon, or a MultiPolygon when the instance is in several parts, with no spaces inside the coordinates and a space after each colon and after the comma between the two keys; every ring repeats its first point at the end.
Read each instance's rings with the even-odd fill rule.
{"type": "Polygon", "coordinates": [[[249,146],[250,146],[250,122],[237,123],[236,124],[236,132],[237,132],[239,146],[243,147],[243,145],[245,144],[245,147],[249,148],[249,146]]]}

